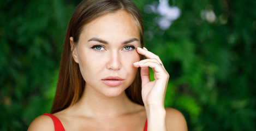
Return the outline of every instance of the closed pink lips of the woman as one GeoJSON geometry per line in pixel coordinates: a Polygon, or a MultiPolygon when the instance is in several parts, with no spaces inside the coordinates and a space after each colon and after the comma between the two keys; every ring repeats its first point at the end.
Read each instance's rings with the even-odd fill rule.
{"type": "Polygon", "coordinates": [[[122,84],[124,79],[120,78],[119,76],[108,76],[102,79],[102,82],[108,86],[119,86],[122,84]]]}

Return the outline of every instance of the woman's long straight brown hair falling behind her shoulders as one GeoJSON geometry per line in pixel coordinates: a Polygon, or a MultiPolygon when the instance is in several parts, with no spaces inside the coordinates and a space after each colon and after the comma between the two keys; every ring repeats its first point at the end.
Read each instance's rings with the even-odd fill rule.
{"type": "MultiPolygon", "coordinates": [[[[140,44],[144,46],[144,25],[141,14],[136,5],[130,0],[84,0],[76,7],[70,18],[66,36],[64,39],[61,66],[56,88],[55,98],[51,114],[74,105],[81,98],[85,88],[85,81],[80,73],[79,64],[72,57],[72,47],[69,38],[73,37],[74,43],[78,43],[82,28],[87,23],[107,13],[118,10],[126,10],[135,20],[140,31],[140,44]]],[[[141,57],[142,58],[142,57],[141,57]]],[[[140,69],[126,94],[130,100],[143,105],[141,98],[140,69]]]]}

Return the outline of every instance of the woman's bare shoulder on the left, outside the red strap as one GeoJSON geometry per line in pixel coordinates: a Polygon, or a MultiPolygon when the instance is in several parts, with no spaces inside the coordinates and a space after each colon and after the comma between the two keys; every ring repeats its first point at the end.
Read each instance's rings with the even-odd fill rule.
{"type": "Polygon", "coordinates": [[[35,118],[28,127],[28,131],[33,130],[49,130],[54,131],[54,124],[50,116],[41,115],[35,118]]]}

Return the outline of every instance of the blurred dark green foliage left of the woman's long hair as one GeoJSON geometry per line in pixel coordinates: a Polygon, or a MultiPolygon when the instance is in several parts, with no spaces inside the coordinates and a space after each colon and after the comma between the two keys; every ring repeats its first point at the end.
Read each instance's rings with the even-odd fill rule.
{"type": "Polygon", "coordinates": [[[75,4],[1,1],[0,130],[27,130],[36,116],[50,111],[75,4]]]}

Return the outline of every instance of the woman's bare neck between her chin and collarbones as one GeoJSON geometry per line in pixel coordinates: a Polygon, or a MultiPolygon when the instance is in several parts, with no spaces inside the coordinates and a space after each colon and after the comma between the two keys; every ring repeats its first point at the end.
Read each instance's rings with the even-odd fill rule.
{"type": "Polygon", "coordinates": [[[115,97],[108,97],[93,89],[85,88],[81,99],[75,104],[79,114],[88,117],[115,117],[118,115],[127,114],[135,110],[133,103],[125,92],[115,97]]]}

